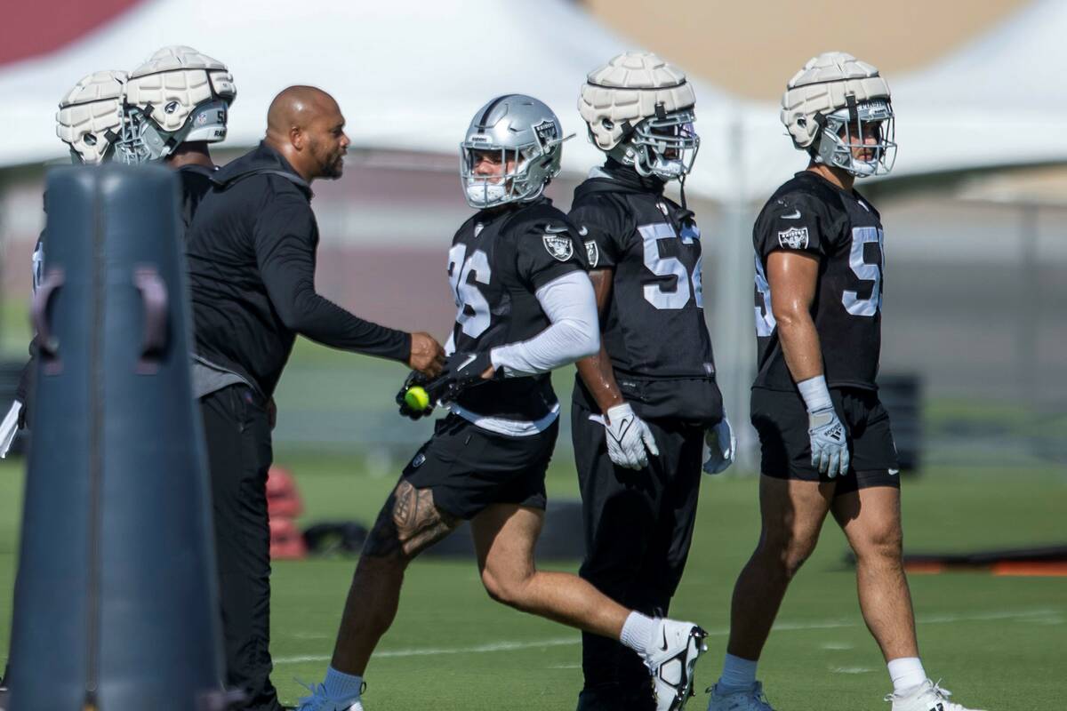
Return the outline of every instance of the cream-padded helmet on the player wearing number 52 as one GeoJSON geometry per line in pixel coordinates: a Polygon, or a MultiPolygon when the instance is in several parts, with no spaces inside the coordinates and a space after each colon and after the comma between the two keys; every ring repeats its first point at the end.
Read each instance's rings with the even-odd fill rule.
{"type": "Polygon", "coordinates": [[[692,169],[700,149],[696,102],[682,69],[652,52],[630,51],[589,72],[578,112],[598,148],[642,176],[674,180],[692,169]]]}

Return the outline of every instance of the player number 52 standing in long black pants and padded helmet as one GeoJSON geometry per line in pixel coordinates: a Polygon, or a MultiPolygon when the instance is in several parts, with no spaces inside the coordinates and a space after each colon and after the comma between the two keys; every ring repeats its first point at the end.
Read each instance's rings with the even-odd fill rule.
{"type": "MultiPolygon", "coordinates": [[[[733,457],[704,322],[700,228],[664,194],[700,140],[678,67],[625,52],[593,70],[578,110],[603,166],[574,192],[600,312],[601,349],[578,361],[571,436],[582,487],[580,576],[647,615],[665,615],[689,553],[705,433],[710,470],[733,457]]],[[[583,634],[580,711],[654,707],[641,660],[583,634]]]]}

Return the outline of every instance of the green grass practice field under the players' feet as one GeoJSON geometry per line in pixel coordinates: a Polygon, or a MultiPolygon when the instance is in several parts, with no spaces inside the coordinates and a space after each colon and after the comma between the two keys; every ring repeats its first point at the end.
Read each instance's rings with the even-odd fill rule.
{"type": "MultiPolygon", "coordinates": [[[[353,459],[278,451],[298,475],[306,515],[369,521],[392,484],[353,459]]],[[[0,649],[7,648],[21,494],[21,463],[0,467],[0,649]]],[[[758,533],[754,478],[704,479],[694,552],[673,614],[710,632],[700,692],[717,677],[733,581],[758,533]]],[[[550,497],[576,494],[558,462],[550,497]]],[[[905,484],[906,547],[968,550],[1067,539],[1062,471],[971,474],[934,470],[905,484]]],[[[463,535],[459,533],[457,535],[463,535]]],[[[827,527],[795,582],[760,677],[781,711],[888,709],[889,680],[859,615],[840,532],[827,527]]],[[[574,561],[545,567],[576,569],[574,561]]],[[[351,559],[274,566],[274,682],[302,693],[325,668],[351,576],[351,559]]],[[[991,711],[1063,709],[1067,696],[1067,579],[984,573],[912,576],[927,670],[960,701],[991,711]]],[[[367,673],[365,700],[385,709],[569,709],[580,686],[578,634],[492,602],[472,561],[420,560],[411,568],[394,628],[367,673]]],[[[689,706],[701,709],[706,696],[689,706]]]]}

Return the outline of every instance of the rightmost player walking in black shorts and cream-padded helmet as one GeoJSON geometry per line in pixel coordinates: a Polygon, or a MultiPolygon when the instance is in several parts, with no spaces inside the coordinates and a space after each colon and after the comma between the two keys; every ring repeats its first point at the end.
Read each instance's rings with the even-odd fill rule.
{"type": "Polygon", "coordinates": [[[854,183],[893,166],[889,84],[849,54],[819,54],[790,80],[781,118],[810,162],[771,195],[752,230],[763,532],[734,587],[728,653],[707,708],[770,711],[757,661],[832,514],[856,553],[860,610],[889,666],[892,711],[967,711],[919,659],[899,465],[875,383],[882,226],[854,183]]]}

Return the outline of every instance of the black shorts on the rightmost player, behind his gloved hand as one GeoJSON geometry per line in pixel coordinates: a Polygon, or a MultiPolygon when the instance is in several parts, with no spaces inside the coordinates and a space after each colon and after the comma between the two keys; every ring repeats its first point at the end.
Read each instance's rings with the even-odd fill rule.
{"type": "Polygon", "coordinates": [[[833,409],[848,433],[848,471],[831,480],[811,465],[808,410],[798,392],[752,388],[752,426],[760,433],[760,471],[775,479],[835,481],[834,496],[869,486],[899,487],[889,413],[875,390],[832,388],[833,409]]]}

